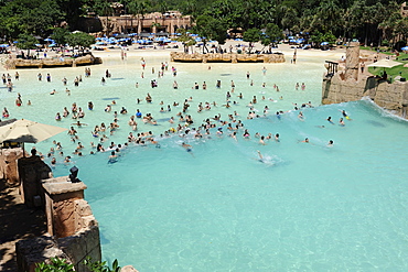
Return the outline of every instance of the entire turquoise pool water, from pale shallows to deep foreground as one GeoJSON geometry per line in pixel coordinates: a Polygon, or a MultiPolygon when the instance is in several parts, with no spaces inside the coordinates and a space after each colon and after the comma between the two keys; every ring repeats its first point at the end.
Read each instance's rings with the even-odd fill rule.
{"type": "MultiPolygon", "coordinates": [[[[160,62],[167,59],[147,61],[158,70],[160,62]]],[[[93,76],[83,76],[84,83],[78,88],[68,86],[69,97],[56,78],[65,75],[72,79],[83,74],[83,68],[53,69],[55,81],[50,84],[37,83],[36,70],[21,70],[15,93],[2,91],[1,101],[12,117],[68,127],[73,121],[57,123],[55,112],[73,101],[86,108],[87,101],[93,100],[95,110],[86,111],[82,120],[89,126],[78,129],[79,139],[86,144],[84,153],[92,150],[88,145],[93,141],[92,128],[112,120],[112,115],[103,110],[109,101],[104,98],[117,97],[118,109],[125,106],[135,112],[140,108],[157,119],[165,119],[175,116],[180,107],[159,113],[160,100],[167,105],[193,96],[189,110],[195,121],[193,127],[218,112],[223,119],[234,110],[240,115],[251,133],[250,140],[243,139],[244,131],[239,130],[235,141],[224,127],[223,137],[212,129],[211,139],[173,135],[159,139],[160,149],[129,146],[115,164],[107,163],[106,153],[73,156],[79,178],[88,186],[86,199],[100,225],[104,259],[110,262],[118,259],[121,265],[132,264],[141,272],[406,271],[407,122],[364,100],[302,109],[303,121],[296,111],[278,119],[275,111],[290,110],[292,102],[311,100],[319,105],[322,59],[303,62],[268,65],[266,76],[261,73],[262,64],[217,64],[211,70],[207,65],[175,64],[179,70],[175,79],[181,88],[174,91],[171,88],[174,78],[168,74],[158,79],[159,87],[152,90],[149,83],[153,77],[140,79],[138,59],[128,63],[108,59],[104,66],[92,67],[93,76]],[[115,80],[101,86],[106,68],[115,80]],[[249,86],[247,70],[255,86],[249,86]],[[221,90],[215,89],[216,79],[223,80],[221,90]],[[245,97],[239,106],[196,112],[200,101],[223,104],[232,79],[236,84],[235,96],[243,93],[245,97]],[[201,85],[203,80],[208,85],[206,91],[191,89],[194,81],[201,85]],[[138,89],[135,81],[140,84],[138,89]],[[264,81],[266,88],[261,87],[264,81]],[[304,81],[307,89],[296,90],[297,81],[304,81]],[[276,93],[273,84],[280,87],[280,93],[276,93]],[[61,93],[50,96],[47,93],[54,86],[61,93]],[[13,106],[17,91],[21,91],[23,101],[32,99],[33,105],[13,106]],[[143,98],[148,91],[153,104],[137,106],[135,98],[143,98]],[[247,120],[246,105],[254,95],[258,100],[265,95],[277,101],[259,102],[255,107],[258,113],[265,105],[270,113],[247,120]],[[352,118],[345,120],[345,127],[339,126],[340,110],[346,110],[352,118]],[[326,121],[329,116],[335,124],[326,121]],[[256,132],[279,133],[280,142],[269,140],[260,145],[256,132]],[[310,143],[300,142],[304,138],[310,143]],[[334,141],[333,146],[326,146],[329,140],[334,141]],[[185,152],[183,141],[193,146],[193,152],[185,152]],[[262,162],[257,150],[264,155],[262,162]]],[[[119,118],[121,128],[108,142],[126,141],[129,116],[119,118]]],[[[139,130],[158,134],[171,127],[165,121],[159,124],[140,124],[139,130]]],[[[53,146],[52,140],[62,142],[65,154],[76,145],[69,142],[69,137],[61,134],[37,144],[37,149],[46,153],[53,146]]],[[[64,165],[62,156],[56,157],[54,174],[67,175],[73,164],[64,165]]]]}

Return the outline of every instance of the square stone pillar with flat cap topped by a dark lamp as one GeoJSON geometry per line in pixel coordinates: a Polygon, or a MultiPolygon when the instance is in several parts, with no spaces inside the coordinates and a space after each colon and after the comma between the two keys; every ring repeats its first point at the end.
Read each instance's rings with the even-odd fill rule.
{"type": "Polygon", "coordinates": [[[77,230],[76,200],[84,199],[86,185],[62,176],[44,179],[43,188],[49,233],[56,238],[74,235],[77,230]]]}

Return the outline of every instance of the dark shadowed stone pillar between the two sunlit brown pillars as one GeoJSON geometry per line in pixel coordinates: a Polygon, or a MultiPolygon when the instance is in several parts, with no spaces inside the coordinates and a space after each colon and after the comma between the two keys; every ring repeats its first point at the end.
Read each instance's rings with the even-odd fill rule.
{"type": "Polygon", "coordinates": [[[40,156],[21,157],[18,161],[20,195],[29,208],[45,203],[41,181],[50,178],[52,171],[40,156]]]}

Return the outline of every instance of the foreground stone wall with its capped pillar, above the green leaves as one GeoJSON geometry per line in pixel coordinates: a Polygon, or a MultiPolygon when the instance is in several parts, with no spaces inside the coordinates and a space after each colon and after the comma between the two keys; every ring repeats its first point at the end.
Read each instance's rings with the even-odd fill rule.
{"type": "Polygon", "coordinates": [[[17,244],[19,271],[34,271],[35,263],[52,257],[68,260],[75,271],[88,271],[83,261],[101,260],[99,227],[90,206],[84,200],[86,185],[67,176],[42,181],[47,236],[17,244]]]}

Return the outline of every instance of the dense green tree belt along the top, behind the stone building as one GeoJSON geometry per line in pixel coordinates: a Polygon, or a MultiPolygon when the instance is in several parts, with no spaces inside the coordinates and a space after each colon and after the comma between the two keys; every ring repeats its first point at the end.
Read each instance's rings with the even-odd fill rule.
{"type": "MultiPolygon", "coordinates": [[[[280,31],[332,33],[379,44],[383,39],[408,37],[408,19],[394,0],[117,0],[127,13],[143,18],[150,12],[180,10],[196,20],[197,33],[223,42],[228,29],[265,29],[273,23],[280,31]],[[206,22],[206,23],[203,23],[206,22]]],[[[110,0],[0,0],[0,36],[21,33],[49,36],[68,22],[72,30],[87,12],[112,14],[110,0]]],[[[266,43],[264,37],[262,41],[266,43]]],[[[271,41],[272,37],[269,36],[271,41]]],[[[205,41],[204,41],[205,42],[205,41]]]]}

